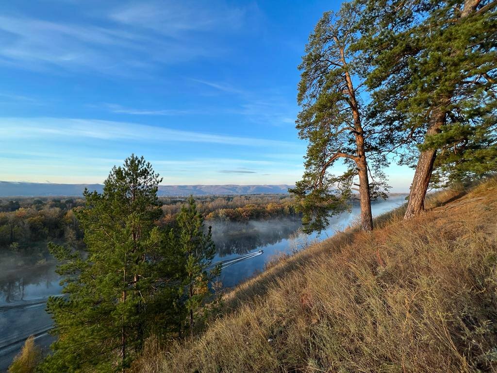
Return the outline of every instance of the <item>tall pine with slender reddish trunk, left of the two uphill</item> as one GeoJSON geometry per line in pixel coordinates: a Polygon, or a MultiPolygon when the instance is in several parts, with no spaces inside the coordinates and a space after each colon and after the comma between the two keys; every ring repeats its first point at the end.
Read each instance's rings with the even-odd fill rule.
{"type": "MultiPolygon", "coordinates": [[[[374,133],[363,120],[361,67],[349,47],[355,42],[357,13],[353,5],[342,4],[335,15],[324,13],[309,37],[302,70],[298,103],[297,129],[308,140],[303,179],[290,191],[296,194],[307,232],[323,230],[328,217],[349,207],[352,184],[359,180],[361,225],[373,228],[371,199],[386,187],[380,167],[385,159],[376,146],[374,133]],[[375,157],[374,157],[375,156],[375,157]],[[368,165],[367,158],[374,162],[368,165]],[[331,169],[342,163],[346,171],[332,175],[331,169]],[[376,180],[370,184],[376,173],[376,180]]],[[[382,194],[385,195],[385,194],[382,194]]]]}

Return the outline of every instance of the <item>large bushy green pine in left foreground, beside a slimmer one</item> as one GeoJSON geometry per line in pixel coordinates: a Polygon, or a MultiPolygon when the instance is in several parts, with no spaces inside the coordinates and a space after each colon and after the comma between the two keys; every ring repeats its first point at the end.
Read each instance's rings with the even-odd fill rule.
{"type": "Polygon", "coordinates": [[[51,245],[66,296],[47,304],[58,339],[42,372],[124,370],[147,336],[166,332],[157,330],[158,320],[170,326],[176,269],[154,224],[162,213],[161,180],[132,155],[112,169],[103,193],[84,191],[86,206],[77,217],[86,252],[51,245]]]}

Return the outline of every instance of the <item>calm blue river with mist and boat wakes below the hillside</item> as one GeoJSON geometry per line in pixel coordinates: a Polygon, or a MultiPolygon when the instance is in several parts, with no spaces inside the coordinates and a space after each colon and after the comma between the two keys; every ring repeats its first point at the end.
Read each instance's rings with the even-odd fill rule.
{"type": "MultiPolygon", "coordinates": [[[[391,195],[387,200],[372,204],[373,215],[392,210],[405,202],[406,194],[391,195]]],[[[359,215],[359,206],[330,219],[330,226],[321,235],[301,233],[300,219],[283,218],[251,220],[248,222],[208,221],[212,225],[213,240],[218,254],[214,262],[223,262],[221,281],[231,287],[259,271],[275,255],[292,253],[308,243],[331,237],[343,230],[359,215]],[[262,252],[260,252],[262,251],[262,252]],[[243,256],[243,257],[241,257],[243,256]],[[241,259],[239,259],[241,258],[241,259]]],[[[9,261],[9,263],[15,262],[9,261]]],[[[48,348],[52,326],[45,312],[48,296],[60,294],[59,277],[54,263],[20,270],[2,268],[0,264],[0,372],[5,371],[31,334],[36,343],[48,348]]]]}

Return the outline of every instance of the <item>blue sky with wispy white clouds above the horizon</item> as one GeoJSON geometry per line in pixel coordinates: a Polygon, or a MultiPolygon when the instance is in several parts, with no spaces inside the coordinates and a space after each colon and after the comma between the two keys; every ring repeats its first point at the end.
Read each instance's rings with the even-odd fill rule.
{"type": "Polygon", "coordinates": [[[163,184],[294,184],[297,65],[338,6],[2,1],[0,180],[101,183],[135,153],[163,184]]]}

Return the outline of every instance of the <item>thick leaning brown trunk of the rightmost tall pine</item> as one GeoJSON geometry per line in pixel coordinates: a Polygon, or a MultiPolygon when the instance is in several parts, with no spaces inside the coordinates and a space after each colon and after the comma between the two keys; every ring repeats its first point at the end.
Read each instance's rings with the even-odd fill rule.
{"type": "MultiPolygon", "coordinates": [[[[445,123],[445,111],[438,111],[433,115],[431,123],[426,131],[426,135],[434,135],[439,133],[442,125],[445,123]]],[[[413,184],[411,185],[411,193],[407,204],[406,214],[404,219],[411,217],[424,211],[424,197],[428,190],[428,185],[433,171],[435,162],[436,149],[427,149],[419,153],[416,172],[414,173],[413,184]]]]}

